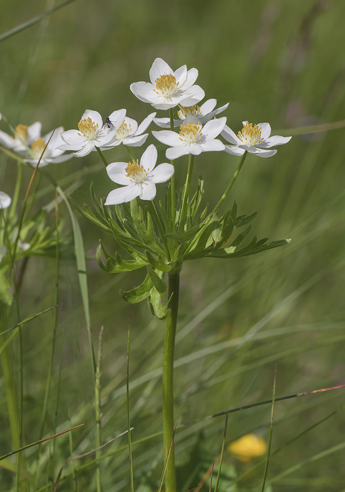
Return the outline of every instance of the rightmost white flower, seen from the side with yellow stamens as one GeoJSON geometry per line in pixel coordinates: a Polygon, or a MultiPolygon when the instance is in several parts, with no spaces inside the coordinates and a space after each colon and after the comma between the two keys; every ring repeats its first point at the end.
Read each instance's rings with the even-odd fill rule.
{"type": "Polygon", "coordinates": [[[221,136],[232,145],[225,145],[225,152],[232,155],[243,155],[247,150],[251,154],[259,157],[271,157],[276,154],[276,149],[266,150],[274,145],[282,145],[291,140],[291,137],[280,137],[271,135],[271,127],[269,123],[258,123],[254,125],[247,121],[242,121],[242,132],[238,135],[225,125],[221,136]]]}

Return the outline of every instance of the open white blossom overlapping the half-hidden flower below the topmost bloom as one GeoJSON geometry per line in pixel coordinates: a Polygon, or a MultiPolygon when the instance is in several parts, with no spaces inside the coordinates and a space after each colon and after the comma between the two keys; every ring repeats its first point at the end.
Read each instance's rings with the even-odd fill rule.
{"type": "Polygon", "coordinates": [[[163,130],[152,132],[152,135],[160,142],[171,146],[165,153],[167,159],[177,159],[186,154],[199,155],[202,152],[224,150],[224,143],[215,140],[215,137],[223,130],[225,123],[226,117],[223,116],[208,121],[203,127],[198,118],[187,116],[180,126],[179,133],[163,130]]]}

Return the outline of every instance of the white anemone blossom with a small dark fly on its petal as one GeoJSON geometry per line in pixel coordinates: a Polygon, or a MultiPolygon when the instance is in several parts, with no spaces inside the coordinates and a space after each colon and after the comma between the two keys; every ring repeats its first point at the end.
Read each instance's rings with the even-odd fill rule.
{"type": "Polygon", "coordinates": [[[61,138],[65,143],[57,148],[59,150],[75,150],[76,152],[73,154],[75,157],[84,157],[92,150],[96,151],[95,147],[102,148],[114,138],[116,130],[122,125],[126,116],[126,109],[119,109],[114,113],[116,113],[116,117],[114,117],[112,124],[105,123],[103,125],[102,116],[98,111],[86,109],[78,123],[79,130],[63,132],[61,138]]]}

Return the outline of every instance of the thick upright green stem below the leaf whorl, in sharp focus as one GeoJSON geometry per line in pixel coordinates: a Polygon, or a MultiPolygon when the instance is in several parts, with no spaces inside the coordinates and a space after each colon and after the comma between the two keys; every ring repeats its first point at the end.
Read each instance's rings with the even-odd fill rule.
{"type": "MultiPolygon", "coordinates": [[[[164,458],[169,453],[173,438],[173,356],[178,313],[178,295],[180,288],[180,268],[169,272],[169,310],[166,318],[163,349],[163,446],[164,458]]],[[[172,446],[165,473],[166,492],[176,492],[175,456],[172,446]]]]}

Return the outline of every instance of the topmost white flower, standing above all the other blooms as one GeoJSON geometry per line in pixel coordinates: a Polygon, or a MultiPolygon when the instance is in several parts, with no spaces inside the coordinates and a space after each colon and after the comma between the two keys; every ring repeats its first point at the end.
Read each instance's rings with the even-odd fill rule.
{"type": "Polygon", "coordinates": [[[192,106],[205,97],[203,89],[193,85],[198,73],[197,69],[187,70],[186,65],[173,71],[162,58],[156,58],[150,69],[151,83],[135,82],[130,89],[140,101],[156,109],[170,109],[180,103],[192,106]]]}

